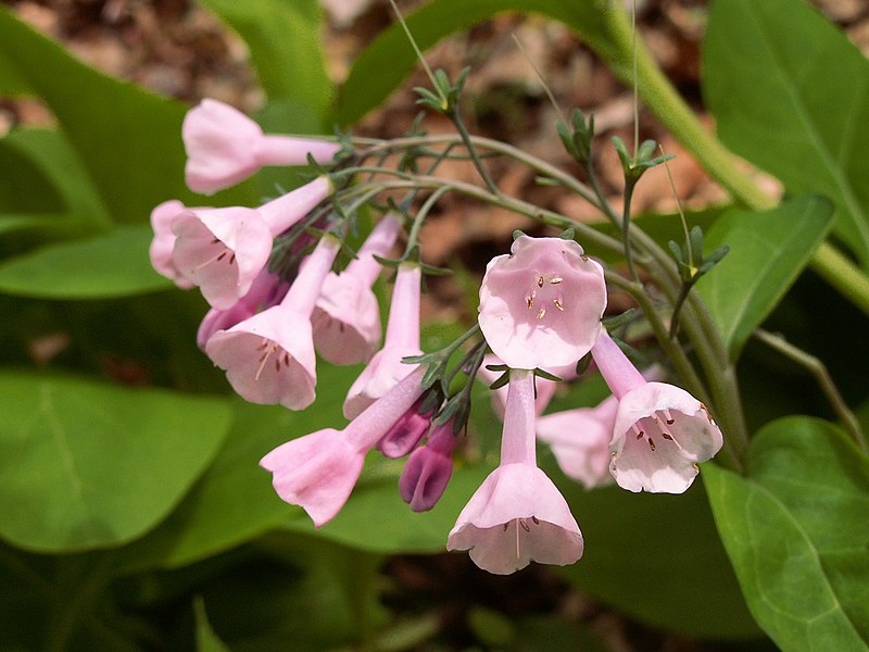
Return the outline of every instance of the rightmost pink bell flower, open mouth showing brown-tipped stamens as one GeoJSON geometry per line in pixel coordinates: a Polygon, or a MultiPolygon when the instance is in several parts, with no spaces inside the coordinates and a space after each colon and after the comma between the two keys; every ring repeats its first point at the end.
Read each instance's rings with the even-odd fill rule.
{"type": "Polygon", "coordinates": [[[682,493],[698,462],[723,443],[706,406],[685,390],[646,383],[604,331],[592,349],[594,362],[618,399],[609,471],[630,491],[682,493]]]}

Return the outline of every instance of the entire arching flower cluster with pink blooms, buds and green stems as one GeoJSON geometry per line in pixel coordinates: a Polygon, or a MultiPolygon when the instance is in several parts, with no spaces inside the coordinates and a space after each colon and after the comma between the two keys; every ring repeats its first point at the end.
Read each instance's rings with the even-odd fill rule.
{"type": "MultiPolygon", "coordinates": [[[[421,93],[423,101],[454,122],[456,136],[430,137],[418,125],[389,141],[264,135],[235,109],[203,101],[188,113],[182,130],[191,189],[215,192],[264,165],[307,163],[317,176],[255,209],[187,208],[175,200],[156,206],[151,260],[179,288],[200,289],[211,310],[199,348],[248,401],[304,410],[315,399],[317,354],[331,364],[367,363],[344,401],[350,423],[343,429],[297,437],[261,461],[280,498],[302,506],[317,527],[344,505],[371,449],[407,457],[401,496],[414,511],[430,510],[462,450],[478,378],[492,387],[503,417],[501,460],[462,510],[446,548],[467,550],[478,566],[496,574],[531,561],[571,564],[583,553],[582,535],[537,465],[538,440],[587,488],[616,482],[630,491],[679,493],[692,484],[697,464],[723,443],[701,401],[727,415],[726,429],[730,434],[732,426],[738,442],[742,437],[740,416],[728,401],[735,387],[722,366],[720,340],[690,293],[700,266],[687,265],[685,258],[702,261],[702,252],[687,242],[685,250],[672,248],[681,260],[669,258],[631,225],[629,191],[624,215],[613,212],[591,165],[593,120],[576,112],[571,127],[558,126],[589,176],[587,186],[507,145],[470,136],[457,110],[462,79],[455,86],[445,75],[437,79],[438,88],[421,93]],[[619,237],[504,195],[487,174],[481,152],[512,158],[578,192],[610,218],[619,237]],[[439,164],[451,158],[469,161],[481,183],[439,177],[439,164]],[[426,352],[420,288],[424,276],[438,271],[424,262],[418,235],[446,193],[567,230],[553,237],[517,233],[509,253],[487,267],[478,323],[443,350],[426,352]],[[363,206],[380,217],[353,252],[347,241],[360,228],[363,206]],[[622,254],[627,273],[605,268],[578,239],[622,254]],[[389,258],[400,241],[404,252],[389,258]],[[393,273],[385,335],[373,292],[383,267],[393,273]],[[641,373],[622,352],[613,335],[618,328],[603,321],[608,286],[634,298],[641,316],[627,319],[650,327],[666,361],[641,373]],[[705,380],[678,339],[680,315],[705,380]],[[659,381],[673,372],[698,398],[659,381]],[[595,373],[610,398],[597,408],[544,414],[559,383],[595,373]]],[[[626,189],[666,160],[652,158],[654,143],[643,143],[633,156],[624,143],[617,148],[626,189]]]]}

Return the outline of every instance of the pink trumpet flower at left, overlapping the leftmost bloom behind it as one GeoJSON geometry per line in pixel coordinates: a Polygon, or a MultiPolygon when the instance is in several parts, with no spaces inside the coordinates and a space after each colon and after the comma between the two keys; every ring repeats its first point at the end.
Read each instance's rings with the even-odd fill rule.
{"type": "Polygon", "coordinates": [[[213,306],[228,310],[268,262],[275,236],[302,220],[332,191],[328,177],[288,192],[259,209],[186,209],[172,220],[172,261],[213,306]]]}

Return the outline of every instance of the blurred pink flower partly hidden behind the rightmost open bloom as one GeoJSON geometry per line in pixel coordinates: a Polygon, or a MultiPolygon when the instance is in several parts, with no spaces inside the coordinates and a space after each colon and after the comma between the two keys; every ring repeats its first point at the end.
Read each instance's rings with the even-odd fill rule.
{"type": "Polygon", "coordinates": [[[585,489],[613,482],[609,442],[618,400],[609,397],[596,408],[578,408],[541,416],[537,437],[550,444],[564,474],[585,489]]]}

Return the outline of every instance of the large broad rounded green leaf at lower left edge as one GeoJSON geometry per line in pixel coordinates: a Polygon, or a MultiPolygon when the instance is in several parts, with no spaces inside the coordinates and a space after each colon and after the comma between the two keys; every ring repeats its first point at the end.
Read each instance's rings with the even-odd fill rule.
{"type": "Polygon", "coordinates": [[[180,501],[226,434],[223,401],[0,374],[0,537],[41,552],[119,546],[180,501]]]}

